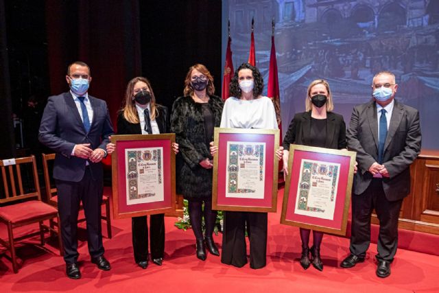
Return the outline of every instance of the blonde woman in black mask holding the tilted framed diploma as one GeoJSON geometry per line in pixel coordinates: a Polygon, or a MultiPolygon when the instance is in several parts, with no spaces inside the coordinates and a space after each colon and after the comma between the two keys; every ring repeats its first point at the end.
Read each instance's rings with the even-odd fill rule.
{"type": "MultiPolygon", "coordinates": [[[[287,134],[283,140],[283,172],[288,174],[289,145],[309,145],[320,148],[346,149],[346,125],[343,116],[332,112],[334,105],[326,80],[314,80],[309,84],[307,98],[305,99],[306,111],[297,113],[289,124],[287,134]]],[[[302,257],[300,265],[305,270],[309,268],[312,255],[313,267],[323,270],[320,259],[320,244],[323,232],[313,231],[313,246],[309,248],[309,229],[300,228],[302,240],[302,257]]]]}

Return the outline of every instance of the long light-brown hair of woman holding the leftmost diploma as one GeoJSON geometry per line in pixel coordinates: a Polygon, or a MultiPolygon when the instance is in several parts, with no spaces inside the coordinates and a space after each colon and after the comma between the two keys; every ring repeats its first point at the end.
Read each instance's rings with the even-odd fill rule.
{"type": "Polygon", "coordinates": [[[137,82],[145,82],[150,89],[151,94],[151,102],[150,102],[150,110],[151,110],[151,120],[155,120],[156,116],[158,116],[157,108],[156,108],[156,97],[154,96],[154,92],[152,91],[151,83],[146,78],[138,76],[137,78],[133,78],[128,82],[125,91],[125,99],[123,99],[123,105],[121,111],[123,111],[123,118],[126,121],[132,124],[140,123],[139,114],[137,113],[136,102],[134,101],[134,86],[137,82]]]}

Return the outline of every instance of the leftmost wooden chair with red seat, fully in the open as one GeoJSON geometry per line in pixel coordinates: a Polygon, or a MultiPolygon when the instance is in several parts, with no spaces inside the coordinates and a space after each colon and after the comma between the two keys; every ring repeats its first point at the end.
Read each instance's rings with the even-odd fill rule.
{"type": "MultiPolygon", "coordinates": [[[[0,167],[5,191],[5,197],[0,198],[0,222],[8,227],[8,242],[0,238],[0,244],[10,251],[12,268],[14,273],[17,273],[19,270],[16,263],[16,242],[40,235],[40,242],[43,246],[45,244],[44,234],[47,231],[56,232],[54,228],[46,226],[43,221],[54,218],[57,219],[58,223],[60,221],[57,209],[41,201],[35,156],[0,160],[0,167]],[[26,177],[31,174],[33,186],[31,186],[32,180],[26,180],[26,177]],[[39,223],[39,231],[14,237],[15,228],[35,223],[39,223]]],[[[58,231],[60,231],[59,224],[58,231]]],[[[63,248],[60,235],[58,235],[58,244],[60,255],[62,255],[63,248]]]]}

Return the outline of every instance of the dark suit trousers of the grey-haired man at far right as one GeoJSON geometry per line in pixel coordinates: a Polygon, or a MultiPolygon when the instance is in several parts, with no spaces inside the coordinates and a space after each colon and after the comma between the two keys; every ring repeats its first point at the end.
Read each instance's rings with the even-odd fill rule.
{"type": "Polygon", "coordinates": [[[352,229],[350,250],[353,255],[366,256],[370,244],[370,215],[375,209],[379,220],[379,261],[393,261],[398,246],[398,218],[403,200],[389,201],[384,194],[383,181],[372,179],[363,194],[352,198],[352,229]]]}

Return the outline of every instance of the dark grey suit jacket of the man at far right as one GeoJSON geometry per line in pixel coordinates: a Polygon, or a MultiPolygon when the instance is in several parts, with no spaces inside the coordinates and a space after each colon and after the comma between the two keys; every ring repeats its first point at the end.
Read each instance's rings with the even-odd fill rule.
{"type": "MultiPolygon", "coordinates": [[[[375,101],[355,106],[347,131],[348,149],[357,152],[358,172],[354,194],[362,194],[372,180],[370,165],[378,161],[378,119],[375,101]]],[[[420,152],[418,110],[394,101],[384,144],[383,165],[390,178],[383,178],[388,200],[400,200],[410,192],[410,165],[420,152]]]]}

